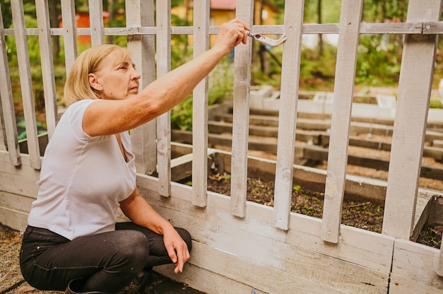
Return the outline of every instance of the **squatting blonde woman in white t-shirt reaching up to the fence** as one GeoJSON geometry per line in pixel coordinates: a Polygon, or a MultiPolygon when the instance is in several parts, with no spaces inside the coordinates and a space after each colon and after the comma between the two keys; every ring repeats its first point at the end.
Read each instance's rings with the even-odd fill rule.
{"type": "Polygon", "coordinates": [[[160,264],[183,271],[188,231],[174,228],[136,188],[128,130],[171,110],[229,54],[248,25],[221,26],[207,52],[139,91],[127,49],[99,45],[74,62],[69,107],[45,151],[37,200],[23,235],[21,271],[42,290],[115,293],[160,264]],[[131,220],[116,223],[117,210],[131,220]]]}

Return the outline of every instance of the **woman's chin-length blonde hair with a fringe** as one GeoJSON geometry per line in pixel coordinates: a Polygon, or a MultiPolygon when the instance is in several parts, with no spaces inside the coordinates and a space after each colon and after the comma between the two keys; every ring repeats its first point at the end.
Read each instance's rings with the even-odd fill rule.
{"type": "Polygon", "coordinates": [[[64,84],[64,104],[83,99],[100,99],[100,93],[89,85],[89,73],[96,73],[103,66],[103,59],[115,53],[115,63],[120,63],[131,57],[131,52],[117,45],[97,45],[80,54],[71,67],[64,84]]]}

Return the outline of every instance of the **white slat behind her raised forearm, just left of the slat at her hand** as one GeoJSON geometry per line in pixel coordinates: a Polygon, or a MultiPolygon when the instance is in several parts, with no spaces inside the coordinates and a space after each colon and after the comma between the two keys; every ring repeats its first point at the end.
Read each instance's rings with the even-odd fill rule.
{"type": "MultiPolygon", "coordinates": [[[[194,1],[194,57],[209,49],[209,1],[194,1]]],[[[208,78],[192,93],[192,204],[207,204],[208,78]]]]}

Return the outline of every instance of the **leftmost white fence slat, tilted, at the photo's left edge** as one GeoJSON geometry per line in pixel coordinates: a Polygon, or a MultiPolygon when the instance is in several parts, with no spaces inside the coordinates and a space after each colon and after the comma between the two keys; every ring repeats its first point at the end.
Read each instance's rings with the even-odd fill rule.
{"type": "Polygon", "coordinates": [[[11,80],[9,75],[8,56],[6,54],[6,40],[4,36],[3,16],[0,7],[0,139],[1,148],[6,147],[11,163],[21,165],[20,148],[17,139],[16,116],[12,97],[11,80]],[[3,118],[3,119],[2,119],[3,118]]]}

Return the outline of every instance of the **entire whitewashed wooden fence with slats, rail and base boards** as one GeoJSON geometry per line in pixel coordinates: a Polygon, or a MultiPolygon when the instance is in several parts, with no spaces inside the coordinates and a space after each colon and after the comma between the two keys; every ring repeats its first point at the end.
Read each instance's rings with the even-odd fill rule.
{"type": "MultiPolygon", "coordinates": [[[[248,170],[251,48],[235,49],[234,120],[231,153],[207,148],[205,80],[193,97],[192,187],[171,181],[170,114],[131,132],[137,156],[137,185],[151,204],[174,225],[190,230],[192,258],[173,278],[207,293],[440,293],[443,250],[413,242],[423,211],[420,201],[439,192],[418,188],[437,36],[443,33],[442,0],[410,0],[405,23],[362,23],[363,0],[343,0],[340,23],[304,24],[304,1],[285,1],[284,25],[253,25],[255,33],[287,35],[283,45],[277,160],[258,160],[275,175],[274,207],[246,201],[248,170]],[[326,172],[297,167],[297,81],[301,37],[338,33],[333,114],[326,172]],[[360,34],[404,34],[398,101],[387,182],[346,175],[350,114],[360,34]],[[231,172],[231,196],[207,191],[208,157],[222,155],[231,172]],[[156,172],[158,177],[152,175],[156,172]],[[321,182],[323,218],[291,212],[294,179],[321,182]],[[340,224],[345,191],[381,194],[381,234],[340,224]]],[[[253,0],[238,0],[236,16],[253,24],[253,0]]],[[[57,124],[57,90],[51,36],[63,38],[66,71],[77,56],[77,36],[91,35],[92,45],[105,35],[126,35],[142,86],[171,69],[171,34],[194,35],[194,54],[209,47],[209,1],[194,1],[193,25],[171,26],[171,1],[127,0],[125,28],[104,28],[101,1],[89,0],[91,28],[76,28],[74,1],[62,0],[63,28],[51,28],[47,1],[35,1],[38,28],[26,28],[21,1],[11,1],[13,29],[0,21],[0,222],[23,230],[37,194],[42,157],[37,127],[27,39],[38,35],[48,138],[57,124]],[[154,22],[156,19],[156,22],[154,22]],[[20,84],[28,135],[28,153],[20,153],[5,36],[16,40],[20,84]],[[155,44],[155,45],[154,45],[155,44]]],[[[325,5],[328,5],[325,3],[325,5]]],[[[373,66],[376,66],[374,64],[373,66]]],[[[171,276],[171,267],[158,269],[171,276]]]]}

